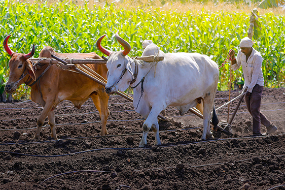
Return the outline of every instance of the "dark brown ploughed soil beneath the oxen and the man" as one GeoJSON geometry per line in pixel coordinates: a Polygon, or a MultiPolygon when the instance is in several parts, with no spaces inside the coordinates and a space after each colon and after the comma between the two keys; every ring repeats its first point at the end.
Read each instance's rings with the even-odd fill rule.
{"type": "MultiPolygon", "coordinates": [[[[232,90],[231,97],[239,93],[232,90]]],[[[216,109],[228,97],[218,91],[216,109]]],[[[150,132],[148,145],[138,148],[144,118],[118,96],[109,100],[109,136],[98,136],[100,118],[91,99],[80,110],[63,101],[55,110],[60,140],[51,139],[45,126],[40,142],[33,140],[40,105],[0,103],[0,189],[285,189],[284,108],[285,88],[266,88],[261,111],[278,127],[276,135],[252,136],[243,101],[233,136],[218,131],[215,141],[201,142],[202,119],[169,107],[166,114],[175,122],[159,122],[162,145],[154,145],[150,132]]],[[[227,120],[228,107],[217,113],[227,120]]]]}

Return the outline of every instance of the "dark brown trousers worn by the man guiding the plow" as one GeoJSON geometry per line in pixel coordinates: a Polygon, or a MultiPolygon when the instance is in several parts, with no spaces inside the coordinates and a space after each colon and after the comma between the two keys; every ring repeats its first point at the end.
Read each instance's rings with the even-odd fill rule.
{"type": "Polygon", "coordinates": [[[263,92],[263,86],[256,84],[255,87],[253,88],[252,93],[247,92],[245,94],[245,102],[246,102],[247,110],[253,116],[253,133],[254,134],[260,134],[261,123],[264,126],[266,126],[266,128],[268,128],[269,125],[271,124],[271,122],[260,111],[262,92],[263,92]]]}

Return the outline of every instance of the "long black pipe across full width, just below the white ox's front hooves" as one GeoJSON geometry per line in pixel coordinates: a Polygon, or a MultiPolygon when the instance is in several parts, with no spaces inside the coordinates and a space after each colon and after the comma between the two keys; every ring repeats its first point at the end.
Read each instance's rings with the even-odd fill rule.
{"type": "MultiPolygon", "coordinates": [[[[279,134],[279,135],[271,135],[271,136],[281,136],[281,135],[285,135],[285,133],[279,134]]],[[[207,141],[197,141],[197,142],[192,142],[192,143],[187,143],[187,144],[156,146],[156,147],[151,147],[151,148],[98,148],[98,149],[85,150],[85,151],[81,151],[81,152],[74,152],[74,153],[68,153],[68,154],[59,154],[59,155],[33,155],[33,154],[23,154],[23,153],[18,153],[18,152],[11,152],[11,151],[0,151],[0,153],[11,153],[11,154],[17,154],[17,155],[34,156],[34,157],[60,157],[60,156],[75,155],[75,154],[79,154],[79,153],[93,152],[93,151],[99,151],[99,150],[149,150],[149,149],[157,149],[157,148],[174,147],[174,146],[179,146],[179,145],[184,146],[184,145],[189,145],[189,144],[207,143],[207,142],[214,142],[214,141],[225,141],[225,140],[234,140],[234,139],[252,139],[252,138],[264,138],[264,137],[269,137],[269,135],[267,135],[267,136],[254,136],[254,137],[215,139],[215,140],[207,140],[207,141]]]]}

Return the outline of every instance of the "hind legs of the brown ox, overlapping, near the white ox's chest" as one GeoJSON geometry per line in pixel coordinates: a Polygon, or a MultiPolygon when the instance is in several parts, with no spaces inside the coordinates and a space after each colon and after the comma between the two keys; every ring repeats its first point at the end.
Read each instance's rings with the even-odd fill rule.
{"type": "Polygon", "coordinates": [[[109,135],[106,129],[107,119],[110,114],[108,110],[109,96],[105,92],[99,92],[98,95],[92,94],[91,99],[99,112],[102,122],[100,136],[109,135]]]}

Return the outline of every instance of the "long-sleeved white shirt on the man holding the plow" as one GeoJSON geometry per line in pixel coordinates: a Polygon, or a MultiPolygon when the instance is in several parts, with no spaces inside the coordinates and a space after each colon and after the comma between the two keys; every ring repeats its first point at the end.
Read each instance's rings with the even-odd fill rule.
{"type": "Polygon", "coordinates": [[[263,79],[263,73],[262,73],[262,61],[263,58],[261,54],[253,48],[253,51],[248,57],[246,62],[246,55],[244,55],[241,50],[238,51],[236,56],[236,64],[232,65],[233,70],[237,70],[240,65],[242,67],[242,72],[244,76],[244,86],[248,87],[248,92],[253,91],[253,88],[256,84],[263,86],[264,85],[264,79],[263,79]]]}

